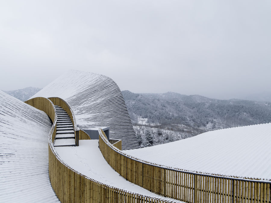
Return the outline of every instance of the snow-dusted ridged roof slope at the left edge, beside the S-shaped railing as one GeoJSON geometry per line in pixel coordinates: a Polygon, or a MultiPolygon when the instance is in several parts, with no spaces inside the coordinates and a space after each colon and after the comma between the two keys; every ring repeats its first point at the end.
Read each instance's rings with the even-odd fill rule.
{"type": "Polygon", "coordinates": [[[48,116],[0,91],[0,202],[59,202],[48,175],[48,116]]]}

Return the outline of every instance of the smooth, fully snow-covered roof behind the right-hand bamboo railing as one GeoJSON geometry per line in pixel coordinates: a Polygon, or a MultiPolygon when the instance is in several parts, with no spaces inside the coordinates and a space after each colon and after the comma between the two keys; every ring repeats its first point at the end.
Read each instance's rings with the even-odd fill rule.
{"type": "Polygon", "coordinates": [[[124,152],[182,170],[270,182],[271,123],[210,131],[184,140],[124,152]]]}

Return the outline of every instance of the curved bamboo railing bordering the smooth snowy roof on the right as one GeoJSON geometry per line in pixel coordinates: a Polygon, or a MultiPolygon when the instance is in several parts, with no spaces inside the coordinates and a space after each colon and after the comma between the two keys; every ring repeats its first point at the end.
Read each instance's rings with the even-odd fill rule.
{"type": "Polygon", "coordinates": [[[108,164],[122,177],[157,195],[189,203],[271,202],[270,180],[192,173],[143,161],[114,147],[101,128],[99,148],[108,164]]]}

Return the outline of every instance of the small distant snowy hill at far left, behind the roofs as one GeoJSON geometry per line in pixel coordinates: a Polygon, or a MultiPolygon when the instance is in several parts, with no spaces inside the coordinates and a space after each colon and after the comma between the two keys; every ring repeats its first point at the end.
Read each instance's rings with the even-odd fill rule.
{"type": "Polygon", "coordinates": [[[34,94],[36,94],[38,91],[40,91],[42,88],[33,88],[33,87],[28,87],[28,88],[23,88],[20,90],[11,90],[11,91],[3,91],[21,101],[26,101],[30,97],[32,97],[34,94]]]}

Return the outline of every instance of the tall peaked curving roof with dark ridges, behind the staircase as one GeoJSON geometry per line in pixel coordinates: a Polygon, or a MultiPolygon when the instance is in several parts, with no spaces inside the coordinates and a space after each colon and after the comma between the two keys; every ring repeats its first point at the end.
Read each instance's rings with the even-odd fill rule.
{"type": "Polygon", "coordinates": [[[110,139],[121,139],[123,149],[139,148],[120,88],[107,76],[70,70],[34,97],[60,97],[73,109],[78,126],[110,127],[110,139]]]}

